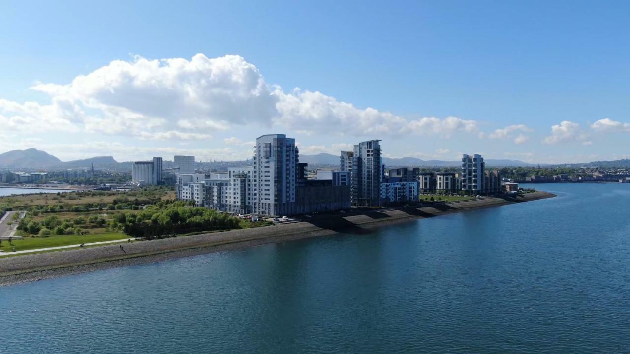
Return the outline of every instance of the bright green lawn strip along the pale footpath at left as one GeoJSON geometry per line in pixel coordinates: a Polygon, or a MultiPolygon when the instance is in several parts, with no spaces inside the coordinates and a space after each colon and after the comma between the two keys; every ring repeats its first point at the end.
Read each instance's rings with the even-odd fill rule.
{"type": "Polygon", "coordinates": [[[25,249],[48,248],[58,246],[69,246],[71,244],[93,243],[101,241],[113,241],[125,239],[129,236],[122,232],[108,232],[105,234],[88,234],[88,235],[55,235],[50,237],[24,237],[24,239],[13,240],[13,246],[9,246],[8,240],[2,241],[2,249],[4,252],[11,252],[13,248],[16,251],[24,251],[25,249]]]}

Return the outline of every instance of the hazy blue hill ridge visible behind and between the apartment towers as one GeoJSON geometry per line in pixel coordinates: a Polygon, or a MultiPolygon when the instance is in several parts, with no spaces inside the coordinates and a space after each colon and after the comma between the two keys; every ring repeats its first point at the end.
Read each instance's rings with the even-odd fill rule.
{"type": "MultiPolygon", "coordinates": [[[[312,165],[333,165],[337,166],[340,161],[340,157],[331,154],[316,154],[316,155],[300,155],[301,163],[308,163],[312,165]]],[[[486,159],[486,166],[496,167],[511,167],[511,166],[536,166],[535,164],[525,163],[518,160],[501,160],[501,159],[486,159]]],[[[440,166],[440,167],[457,167],[461,164],[461,161],[442,161],[442,160],[423,160],[417,157],[401,157],[399,159],[391,157],[383,157],[383,163],[386,166],[398,167],[398,166],[440,166]]]]}

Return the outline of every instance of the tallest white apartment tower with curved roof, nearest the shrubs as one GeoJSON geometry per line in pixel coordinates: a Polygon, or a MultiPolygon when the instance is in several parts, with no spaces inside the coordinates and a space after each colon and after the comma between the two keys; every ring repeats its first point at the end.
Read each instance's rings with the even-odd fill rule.
{"type": "Polygon", "coordinates": [[[299,149],[284,134],[256,139],[252,181],[253,213],[291,214],[297,188],[299,149]]]}

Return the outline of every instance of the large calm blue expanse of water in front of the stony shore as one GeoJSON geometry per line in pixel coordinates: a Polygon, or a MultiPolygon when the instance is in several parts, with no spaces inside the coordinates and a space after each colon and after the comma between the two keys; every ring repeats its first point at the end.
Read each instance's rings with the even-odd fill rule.
{"type": "Polygon", "coordinates": [[[7,353],[627,353],[630,185],[0,287],[7,353]]]}

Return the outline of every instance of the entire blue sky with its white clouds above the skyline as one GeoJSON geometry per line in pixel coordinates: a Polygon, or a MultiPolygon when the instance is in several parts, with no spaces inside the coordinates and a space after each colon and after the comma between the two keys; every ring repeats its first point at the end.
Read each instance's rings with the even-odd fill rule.
{"type": "Polygon", "coordinates": [[[630,158],[627,1],[3,1],[0,152],[630,158]]]}

